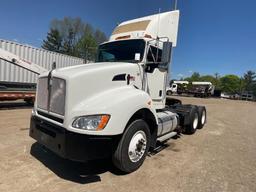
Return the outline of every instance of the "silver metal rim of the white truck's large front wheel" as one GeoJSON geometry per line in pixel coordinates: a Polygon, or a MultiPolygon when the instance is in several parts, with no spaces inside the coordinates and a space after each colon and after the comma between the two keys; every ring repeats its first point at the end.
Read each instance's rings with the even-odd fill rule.
{"type": "Polygon", "coordinates": [[[129,144],[128,156],[132,162],[138,162],[144,155],[147,146],[147,137],[144,131],[137,131],[129,144]]]}

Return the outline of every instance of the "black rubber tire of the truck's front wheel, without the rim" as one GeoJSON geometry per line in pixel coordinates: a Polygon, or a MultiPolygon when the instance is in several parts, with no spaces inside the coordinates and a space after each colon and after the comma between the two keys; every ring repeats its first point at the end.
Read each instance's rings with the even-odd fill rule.
{"type": "Polygon", "coordinates": [[[149,150],[149,146],[150,146],[149,126],[142,119],[133,121],[125,130],[112,156],[112,161],[114,166],[119,170],[123,171],[124,173],[131,173],[133,171],[136,171],[144,162],[149,150]],[[137,162],[132,162],[128,154],[129,152],[128,148],[130,145],[130,141],[138,131],[142,131],[146,135],[146,149],[143,156],[137,162]]]}

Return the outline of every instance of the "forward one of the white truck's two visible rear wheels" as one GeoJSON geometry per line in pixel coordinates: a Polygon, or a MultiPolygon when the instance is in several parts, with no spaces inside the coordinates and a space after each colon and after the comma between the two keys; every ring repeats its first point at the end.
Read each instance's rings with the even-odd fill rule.
{"type": "Polygon", "coordinates": [[[196,106],[192,106],[189,114],[189,124],[185,126],[185,132],[187,134],[194,134],[198,128],[199,114],[196,106]],[[197,121],[197,124],[194,123],[197,121]]]}

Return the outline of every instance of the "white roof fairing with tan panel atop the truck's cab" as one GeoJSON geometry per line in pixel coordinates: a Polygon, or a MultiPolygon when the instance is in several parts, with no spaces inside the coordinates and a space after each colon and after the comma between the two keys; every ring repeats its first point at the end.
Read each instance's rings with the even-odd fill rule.
{"type": "Polygon", "coordinates": [[[122,22],[114,29],[109,41],[167,37],[175,47],[179,13],[178,10],[175,10],[122,22]]]}

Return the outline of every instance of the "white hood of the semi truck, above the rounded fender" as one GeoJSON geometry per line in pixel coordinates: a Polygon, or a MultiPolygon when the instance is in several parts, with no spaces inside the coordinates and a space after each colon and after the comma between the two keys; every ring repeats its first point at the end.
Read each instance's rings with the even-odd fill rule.
{"type": "Polygon", "coordinates": [[[122,86],[135,86],[139,89],[142,87],[140,67],[135,63],[83,64],[56,69],[52,72],[52,77],[64,79],[66,82],[65,115],[81,108],[81,105],[87,105],[94,98],[104,97],[106,91],[122,86]],[[127,79],[130,79],[129,82],[127,79]]]}

